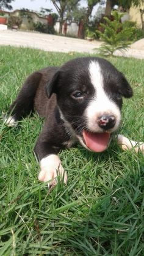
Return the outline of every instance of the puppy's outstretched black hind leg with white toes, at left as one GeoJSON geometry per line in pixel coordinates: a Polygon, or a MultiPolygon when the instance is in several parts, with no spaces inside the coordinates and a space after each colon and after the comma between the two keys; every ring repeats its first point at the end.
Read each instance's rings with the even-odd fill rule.
{"type": "Polygon", "coordinates": [[[5,124],[16,126],[16,121],[21,120],[34,110],[34,97],[40,83],[41,73],[35,72],[23,84],[18,97],[9,108],[9,117],[5,117],[5,124]]]}

